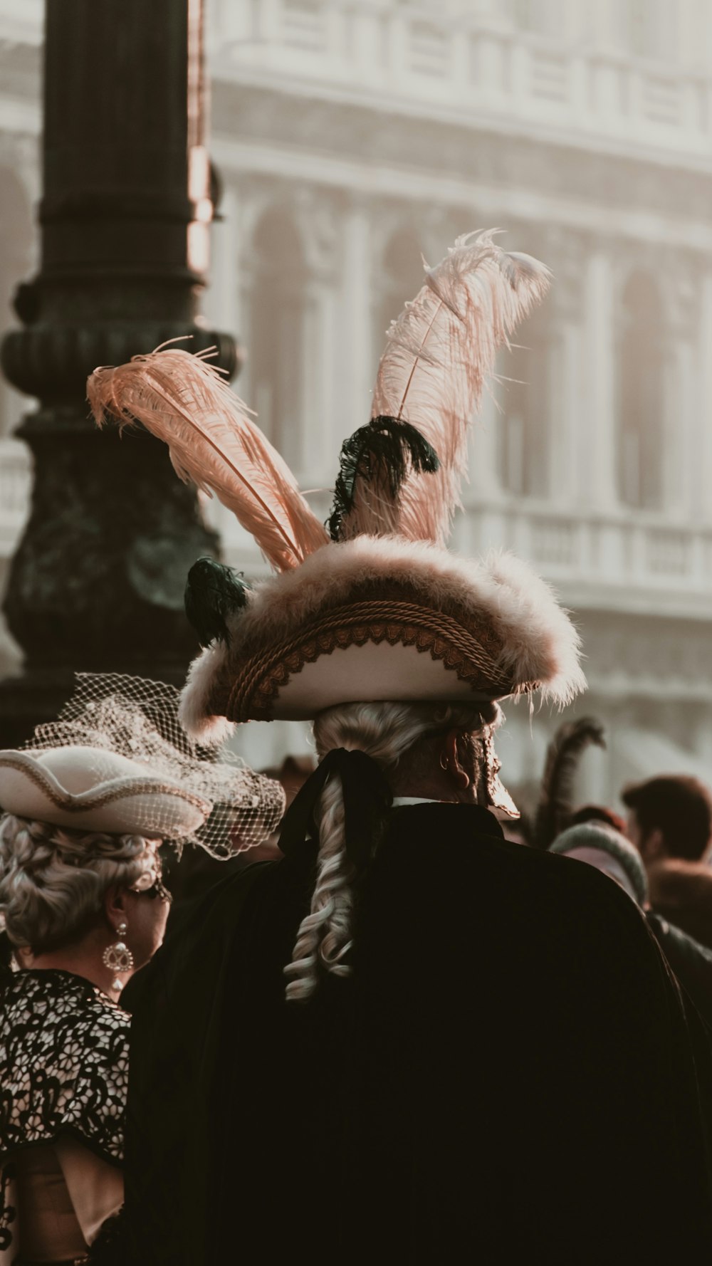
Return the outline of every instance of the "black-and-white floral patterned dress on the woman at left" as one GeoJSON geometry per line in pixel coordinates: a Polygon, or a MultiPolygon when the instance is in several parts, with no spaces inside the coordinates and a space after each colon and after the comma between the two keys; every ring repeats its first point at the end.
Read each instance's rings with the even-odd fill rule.
{"type": "Polygon", "coordinates": [[[14,1256],[20,1150],[73,1136],[122,1165],[129,1024],[82,976],[0,972],[0,1261],[14,1256]]]}

